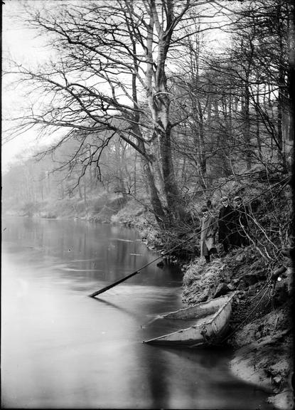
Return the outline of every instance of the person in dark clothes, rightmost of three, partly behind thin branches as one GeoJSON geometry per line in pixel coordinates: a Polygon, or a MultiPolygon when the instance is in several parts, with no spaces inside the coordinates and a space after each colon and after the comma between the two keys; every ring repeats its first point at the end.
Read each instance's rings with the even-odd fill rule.
{"type": "Polygon", "coordinates": [[[234,244],[240,248],[249,246],[249,238],[247,237],[247,231],[249,229],[249,209],[246,205],[242,203],[242,198],[240,196],[235,196],[235,234],[234,234],[234,244]]]}

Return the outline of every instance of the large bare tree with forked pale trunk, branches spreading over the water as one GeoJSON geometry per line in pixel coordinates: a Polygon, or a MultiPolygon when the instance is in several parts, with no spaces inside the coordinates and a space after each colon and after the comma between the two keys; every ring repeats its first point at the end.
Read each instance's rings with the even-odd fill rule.
{"type": "MultiPolygon", "coordinates": [[[[98,156],[109,138],[119,136],[144,160],[151,204],[163,225],[183,213],[171,157],[176,124],[171,121],[166,62],[180,21],[202,3],[97,0],[55,3],[54,9],[31,4],[28,22],[48,36],[55,55],[40,68],[15,63],[10,70],[44,97],[42,105],[35,104],[23,117],[18,132],[32,125],[47,132],[64,127],[69,130],[64,141],[73,130],[89,132],[97,135],[98,156]]],[[[97,156],[90,152],[88,164],[92,162],[97,156]]]]}

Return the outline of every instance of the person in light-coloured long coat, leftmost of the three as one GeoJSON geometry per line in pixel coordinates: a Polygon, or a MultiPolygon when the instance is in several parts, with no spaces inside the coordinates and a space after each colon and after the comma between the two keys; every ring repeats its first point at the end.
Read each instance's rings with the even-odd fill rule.
{"type": "Polygon", "coordinates": [[[217,254],[215,234],[218,231],[218,226],[214,216],[209,213],[207,206],[203,206],[201,211],[203,218],[200,232],[200,256],[205,256],[206,263],[209,263],[210,256],[217,254]]]}

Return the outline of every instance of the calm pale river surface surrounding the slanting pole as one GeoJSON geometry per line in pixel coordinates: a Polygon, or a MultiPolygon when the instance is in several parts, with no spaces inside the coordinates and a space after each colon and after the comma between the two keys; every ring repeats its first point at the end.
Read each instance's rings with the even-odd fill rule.
{"type": "Polygon", "coordinates": [[[3,408],[272,409],[235,379],[229,352],[144,345],[183,308],[181,272],[135,231],[86,221],[2,221],[3,408]]]}

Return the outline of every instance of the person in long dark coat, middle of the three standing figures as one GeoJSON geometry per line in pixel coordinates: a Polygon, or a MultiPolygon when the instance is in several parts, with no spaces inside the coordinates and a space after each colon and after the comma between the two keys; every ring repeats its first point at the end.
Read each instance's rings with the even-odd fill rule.
{"type": "Polygon", "coordinates": [[[235,231],[234,209],[228,203],[227,196],[222,196],[221,203],[218,216],[218,241],[222,243],[223,249],[227,253],[233,243],[233,232],[235,231]]]}

